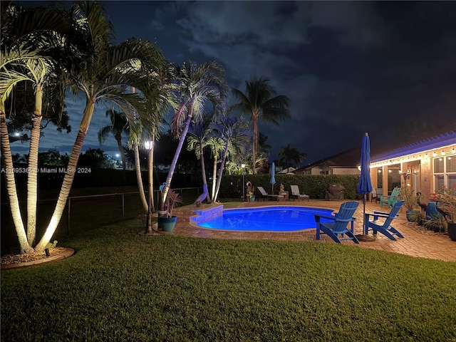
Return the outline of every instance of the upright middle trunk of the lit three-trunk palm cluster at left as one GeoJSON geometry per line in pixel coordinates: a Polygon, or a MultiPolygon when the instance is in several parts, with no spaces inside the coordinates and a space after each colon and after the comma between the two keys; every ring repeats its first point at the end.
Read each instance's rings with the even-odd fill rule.
{"type": "Polygon", "coordinates": [[[33,246],[36,238],[36,202],[38,201],[38,146],[41,133],[43,87],[36,85],[35,110],[31,119],[30,149],[27,175],[27,241],[33,246]]]}

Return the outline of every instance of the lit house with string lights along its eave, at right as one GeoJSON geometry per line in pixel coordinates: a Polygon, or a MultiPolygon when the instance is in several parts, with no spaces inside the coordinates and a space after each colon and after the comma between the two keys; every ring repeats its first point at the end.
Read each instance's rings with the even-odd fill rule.
{"type": "Polygon", "coordinates": [[[455,147],[456,132],[450,131],[371,155],[372,187],[382,187],[383,195],[396,186],[413,187],[429,199],[436,189],[456,185],[455,147]]]}

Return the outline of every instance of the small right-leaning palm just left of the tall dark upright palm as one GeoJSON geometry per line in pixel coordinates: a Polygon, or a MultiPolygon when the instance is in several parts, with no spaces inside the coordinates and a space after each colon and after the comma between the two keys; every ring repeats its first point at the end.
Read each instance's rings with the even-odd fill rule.
{"type": "Polygon", "coordinates": [[[243,116],[239,118],[221,118],[218,123],[212,123],[211,127],[212,129],[216,130],[216,132],[219,134],[219,138],[224,142],[222,163],[219,167],[217,186],[215,189],[215,195],[213,197],[214,202],[216,202],[217,196],[219,195],[220,183],[222,182],[224,165],[228,154],[231,154],[233,156],[244,155],[244,152],[247,148],[247,143],[250,142],[250,139],[252,138],[252,132],[249,130],[249,126],[245,122],[243,116]]]}

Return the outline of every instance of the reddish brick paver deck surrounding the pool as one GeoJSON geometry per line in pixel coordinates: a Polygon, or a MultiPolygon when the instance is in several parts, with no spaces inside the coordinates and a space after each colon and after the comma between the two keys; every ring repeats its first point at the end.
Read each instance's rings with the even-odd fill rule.
{"type": "MultiPolygon", "coordinates": [[[[242,202],[238,204],[224,204],[225,209],[245,208],[245,207],[264,207],[264,206],[301,206],[301,207],[319,207],[337,210],[342,202],[345,201],[325,201],[323,199],[310,199],[307,201],[256,201],[242,202]]],[[[219,204],[218,204],[219,205],[219,204]]],[[[307,229],[303,232],[228,232],[216,229],[206,229],[198,227],[195,223],[190,222],[190,217],[195,216],[195,210],[209,209],[217,204],[202,204],[201,207],[189,205],[175,208],[174,214],[177,215],[177,224],[172,232],[160,232],[162,234],[180,235],[186,237],[202,237],[212,239],[276,239],[276,240],[293,240],[293,241],[316,241],[315,229],[307,229]]],[[[390,209],[380,204],[366,202],[366,212],[373,211],[389,212],[390,209]]],[[[363,203],[355,212],[355,234],[363,233],[363,203]]],[[[405,208],[399,212],[394,227],[404,235],[404,239],[393,241],[383,234],[377,234],[373,242],[361,242],[353,244],[351,241],[343,241],[342,244],[351,244],[352,246],[378,249],[385,252],[393,252],[409,255],[410,257],[422,257],[427,259],[438,259],[443,261],[456,261],[456,242],[451,241],[447,234],[434,233],[421,229],[414,222],[408,222],[405,218],[405,208]]],[[[369,234],[372,235],[372,232],[369,234]]],[[[321,243],[335,243],[326,234],[321,235],[321,243]]]]}

